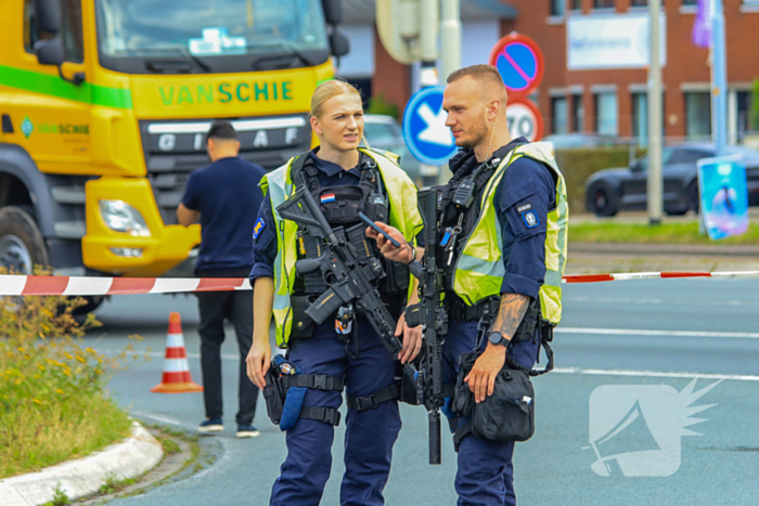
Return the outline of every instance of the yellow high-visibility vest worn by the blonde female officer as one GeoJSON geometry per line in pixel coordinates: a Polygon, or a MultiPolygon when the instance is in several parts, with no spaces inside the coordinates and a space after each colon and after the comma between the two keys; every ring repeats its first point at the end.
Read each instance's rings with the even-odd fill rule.
{"type": "MultiPolygon", "coordinates": [[[[409,243],[415,244],[416,234],[422,230],[422,217],[416,205],[416,186],[398,167],[398,157],[391,153],[380,153],[373,150],[360,148],[362,156],[369,157],[378,169],[382,183],[389,200],[389,217],[387,221],[398,229],[409,243]]],[[[308,156],[308,153],[299,156],[308,156]]],[[[293,333],[293,309],[291,296],[295,293],[295,262],[298,251],[304,250],[299,244],[298,225],[291,220],[283,220],[276,207],[295,193],[300,180],[294,181],[293,167],[298,157],[291,158],[287,164],[269,172],[259,184],[263,195],[269,195],[276,225],[276,258],[274,259],[274,301],[273,314],[276,325],[276,343],[285,348],[293,333]]],[[[298,178],[300,179],[300,178],[298,178]]],[[[311,183],[313,184],[313,183],[311,183]]],[[[380,184],[380,182],[377,182],[380,184]]],[[[338,187],[334,187],[337,190],[338,187]]],[[[310,189],[317,191],[317,189],[310,189]]],[[[319,202],[319,199],[317,200],[319,202]]],[[[413,283],[409,275],[407,296],[411,295],[413,283]]]]}

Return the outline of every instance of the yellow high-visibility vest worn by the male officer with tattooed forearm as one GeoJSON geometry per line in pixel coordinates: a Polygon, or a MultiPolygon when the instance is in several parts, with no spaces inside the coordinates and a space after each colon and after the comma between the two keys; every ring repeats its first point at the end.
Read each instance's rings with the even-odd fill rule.
{"type": "MultiPolygon", "coordinates": [[[[489,297],[501,295],[506,274],[501,245],[501,226],[493,198],[496,189],[509,166],[520,157],[528,157],[545,165],[556,181],[556,206],[549,209],[545,235],[545,281],[540,287],[540,307],[543,320],[556,325],[562,320],[562,276],[567,258],[567,206],[566,184],[550,145],[536,142],[515,147],[505,156],[485,183],[472,223],[464,229],[463,245],[456,247],[451,267],[450,288],[467,306],[474,306],[489,297]]],[[[445,209],[443,209],[445,212],[445,209]]]]}

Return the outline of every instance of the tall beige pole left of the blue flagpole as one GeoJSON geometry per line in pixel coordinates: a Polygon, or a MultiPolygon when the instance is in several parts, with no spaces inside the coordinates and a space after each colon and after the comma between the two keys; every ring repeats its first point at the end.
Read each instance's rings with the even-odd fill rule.
{"type": "Polygon", "coordinates": [[[648,0],[651,61],[648,62],[648,224],[661,223],[661,0],[648,0]]]}

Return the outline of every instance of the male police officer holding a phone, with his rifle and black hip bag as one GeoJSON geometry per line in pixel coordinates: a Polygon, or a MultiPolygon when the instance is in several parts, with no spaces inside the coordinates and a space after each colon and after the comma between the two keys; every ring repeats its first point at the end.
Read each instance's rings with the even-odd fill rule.
{"type": "MultiPolygon", "coordinates": [[[[429,190],[432,197],[420,193],[425,244],[435,245],[434,258],[414,245],[396,247],[371,230],[368,235],[388,259],[409,263],[424,256],[421,307],[407,309],[407,321],[425,324],[425,363],[437,360],[430,327],[440,333],[433,333],[438,343],[447,330],[445,385],[424,391],[433,392],[433,404],[446,398],[442,411],[458,451],[459,504],[515,505],[514,442],[535,430],[529,377],[553,367],[549,342],[562,315],[566,190],[550,146],[512,140],[506,91],[494,67],[461,68],[447,82],[446,125],[462,150],[449,164],[448,184],[429,190]],[[541,346],[548,363],[533,371],[541,346]]],[[[394,228],[377,225],[402,242],[394,228]]],[[[425,382],[434,385],[434,372],[427,376],[425,382]]]]}

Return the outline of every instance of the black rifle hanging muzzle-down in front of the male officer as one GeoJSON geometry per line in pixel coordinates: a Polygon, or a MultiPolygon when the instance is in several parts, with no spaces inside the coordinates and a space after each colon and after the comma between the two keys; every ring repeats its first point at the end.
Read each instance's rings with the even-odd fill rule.
{"type": "Polygon", "coordinates": [[[437,200],[438,193],[434,189],[419,192],[419,207],[424,221],[425,262],[422,275],[417,275],[419,269],[412,268],[412,273],[420,280],[420,302],[406,309],[407,325],[424,326],[424,356],[420,372],[422,395],[419,401],[429,412],[429,464],[440,464],[440,407],[446,400],[442,391],[442,342],[448,334],[448,312],[442,307],[443,272],[437,267],[436,258],[437,200]]]}

